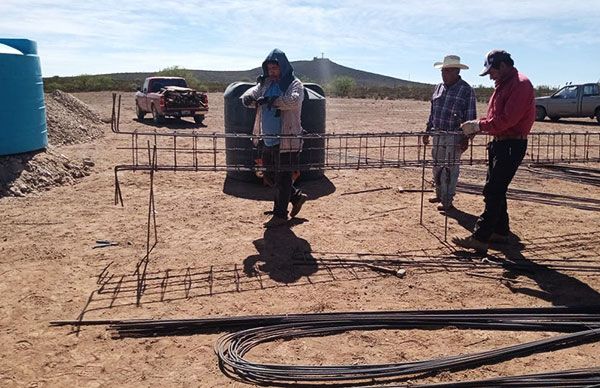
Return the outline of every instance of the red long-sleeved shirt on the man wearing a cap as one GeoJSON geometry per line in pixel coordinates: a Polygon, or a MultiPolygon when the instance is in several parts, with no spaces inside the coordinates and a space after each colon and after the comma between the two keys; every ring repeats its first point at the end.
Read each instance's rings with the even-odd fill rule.
{"type": "Polygon", "coordinates": [[[531,81],[513,68],[496,82],[486,117],[479,121],[482,132],[496,136],[526,136],[535,121],[535,94],[531,81]]]}

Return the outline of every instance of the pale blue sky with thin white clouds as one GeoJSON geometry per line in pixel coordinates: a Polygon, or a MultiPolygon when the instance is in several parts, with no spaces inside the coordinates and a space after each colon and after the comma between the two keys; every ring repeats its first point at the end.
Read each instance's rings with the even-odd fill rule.
{"type": "Polygon", "coordinates": [[[492,86],[478,74],[504,49],[536,86],[600,80],[600,0],[0,0],[0,38],[36,41],[44,77],[248,70],[279,48],[426,83],[455,54],[492,86]]]}

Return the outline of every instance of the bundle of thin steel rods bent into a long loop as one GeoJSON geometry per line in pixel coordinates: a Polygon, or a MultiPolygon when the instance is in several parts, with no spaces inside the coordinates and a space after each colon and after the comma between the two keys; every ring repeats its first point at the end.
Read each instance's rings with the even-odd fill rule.
{"type": "MultiPolygon", "coordinates": [[[[460,321],[460,320],[459,320],[460,321]]],[[[512,330],[528,330],[535,327],[541,329],[544,325],[533,326],[514,324],[504,320],[512,330]]],[[[454,322],[450,325],[454,326],[454,322]]],[[[466,322],[465,322],[466,323],[466,322]]],[[[544,330],[561,331],[563,323],[549,323],[544,330]]],[[[492,322],[475,324],[477,329],[498,329],[492,322]]],[[[422,373],[436,373],[444,370],[461,370],[475,366],[505,361],[515,357],[523,357],[534,353],[564,349],[585,343],[600,340],[600,328],[581,330],[575,333],[560,334],[554,337],[531,341],[519,345],[512,345],[477,353],[468,353],[458,356],[446,356],[423,361],[410,361],[396,364],[370,364],[370,365],[285,365],[261,364],[244,359],[244,356],[254,347],[277,340],[300,338],[309,336],[324,336],[338,334],[350,330],[380,330],[398,329],[405,326],[394,322],[352,321],[335,320],[330,322],[307,322],[305,324],[285,324],[269,327],[246,329],[237,333],[221,337],[216,345],[215,352],[219,357],[221,369],[231,377],[244,381],[270,384],[294,383],[315,384],[317,382],[346,382],[359,383],[373,379],[390,379],[415,376],[422,373]]],[[[459,325],[459,327],[461,327],[459,325]]],[[[505,328],[506,329],[506,328],[505,328]]]]}

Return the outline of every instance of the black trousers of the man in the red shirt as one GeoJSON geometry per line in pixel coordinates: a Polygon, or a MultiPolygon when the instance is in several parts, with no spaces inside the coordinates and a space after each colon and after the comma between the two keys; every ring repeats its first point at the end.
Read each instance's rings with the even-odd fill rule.
{"type": "Polygon", "coordinates": [[[483,187],[485,209],[473,231],[477,240],[487,242],[492,233],[510,233],[506,192],[526,151],[527,140],[494,140],[488,144],[488,172],[483,187]]]}

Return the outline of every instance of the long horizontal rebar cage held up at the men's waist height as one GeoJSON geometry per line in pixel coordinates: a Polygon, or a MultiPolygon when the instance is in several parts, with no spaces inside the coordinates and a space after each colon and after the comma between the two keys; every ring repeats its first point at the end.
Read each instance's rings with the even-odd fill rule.
{"type": "MultiPolygon", "coordinates": [[[[488,162],[489,135],[469,139],[461,152],[446,152],[434,161],[432,150],[442,139],[449,150],[461,147],[466,138],[456,132],[328,133],[298,136],[260,136],[240,133],[205,133],[196,130],[160,130],[122,132],[119,109],[113,107],[112,130],[129,135],[129,146],[120,147],[131,155],[129,164],[118,171],[227,171],[256,172],[324,171],[433,166],[434,164],[477,165],[488,162]],[[424,135],[429,141],[424,142],[424,135]],[[261,160],[261,144],[277,139],[282,144],[302,143],[299,157],[288,164],[268,165],[261,160]],[[426,144],[428,143],[428,144],[426,144]]],[[[283,148],[283,147],[282,147],[283,148]]],[[[600,161],[600,131],[536,132],[529,135],[524,162],[536,164],[590,163],[600,161]]]]}

